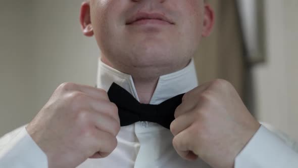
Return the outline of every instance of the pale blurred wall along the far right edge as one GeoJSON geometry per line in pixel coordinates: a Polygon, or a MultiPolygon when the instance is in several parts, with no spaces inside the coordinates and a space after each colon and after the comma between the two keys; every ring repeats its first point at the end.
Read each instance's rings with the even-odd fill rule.
{"type": "Polygon", "coordinates": [[[265,2],[267,63],[253,70],[257,116],[298,140],[298,1],[265,2]]]}

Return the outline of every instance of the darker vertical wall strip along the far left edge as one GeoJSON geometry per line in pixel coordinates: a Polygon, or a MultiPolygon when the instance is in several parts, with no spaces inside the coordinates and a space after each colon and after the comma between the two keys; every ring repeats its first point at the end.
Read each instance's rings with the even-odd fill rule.
{"type": "Polygon", "coordinates": [[[26,1],[0,2],[0,137],[32,117],[30,8],[26,1]]]}

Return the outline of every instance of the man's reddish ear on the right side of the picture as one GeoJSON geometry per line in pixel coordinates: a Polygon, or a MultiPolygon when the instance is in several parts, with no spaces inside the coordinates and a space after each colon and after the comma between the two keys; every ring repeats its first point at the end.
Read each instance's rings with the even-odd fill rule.
{"type": "Polygon", "coordinates": [[[207,37],[210,35],[214,26],[214,11],[209,4],[205,3],[204,22],[202,36],[207,37]]]}

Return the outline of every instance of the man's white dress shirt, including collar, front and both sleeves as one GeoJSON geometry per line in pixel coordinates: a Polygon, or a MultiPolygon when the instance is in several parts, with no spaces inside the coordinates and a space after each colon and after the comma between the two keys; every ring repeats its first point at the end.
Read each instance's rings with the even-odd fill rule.
{"type": "MultiPolygon", "coordinates": [[[[99,61],[97,87],[109,90],[113,82],[138,100],[132,76],[99,61]]],[[[163,75],[158,81],[150,104],[160,104],[197,87],[193,60],[177,72],[163,75]]],[[[235,159],[235,168],[297,168],[298,145],[283,134],[272,133],[264,126],[258,130],[235,159]]],[[[121,127],[116,149],[106,158],[87,159],[78,168],[209,168],[197,159],[182,159],[172,146],[170,130],[153,122],[140,121],[121,127]]],[[[100,140],[98,140],[100,141],[100,140]]],[[[28,135],[25,126],[0,139],[0,167],[47,168],[44,152],[28,135]]],[[[215,167],[216,168],[216,167],[215,167]]]]}

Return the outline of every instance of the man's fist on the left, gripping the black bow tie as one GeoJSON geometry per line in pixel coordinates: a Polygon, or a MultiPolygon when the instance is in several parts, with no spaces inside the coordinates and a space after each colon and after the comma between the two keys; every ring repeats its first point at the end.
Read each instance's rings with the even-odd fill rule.
{"type": "Polygon", "coordinates": [[[116,148],[120,119],[106,91],[63,83],[26,129],[47,155],[49,168],[76,167],[116,148]]]}

